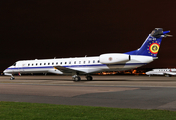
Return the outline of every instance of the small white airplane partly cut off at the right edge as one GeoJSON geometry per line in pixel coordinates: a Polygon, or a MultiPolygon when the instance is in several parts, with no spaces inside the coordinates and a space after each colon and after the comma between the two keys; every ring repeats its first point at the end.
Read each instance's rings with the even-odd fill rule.
{"type": "Polygon", "coordinates": [[[152,71],[148,71],[145,73],[146,75],[165,75],[167,77],[171,77],[172,75],[176,75],[176,69],[153,69],[152,71]]]}

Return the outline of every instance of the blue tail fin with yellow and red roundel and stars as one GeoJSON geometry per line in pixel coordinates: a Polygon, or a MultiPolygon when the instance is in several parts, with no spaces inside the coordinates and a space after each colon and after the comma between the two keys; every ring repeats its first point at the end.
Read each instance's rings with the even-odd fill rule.
{"type": "Polygon", "coordinates": [[[167,35],[169,32],[170,31],[163,31],[162,28],[155,28],[138,50],[130,51],[125,54],[156,57],[161,45],[162,38],[170,36],[167,35]]]}

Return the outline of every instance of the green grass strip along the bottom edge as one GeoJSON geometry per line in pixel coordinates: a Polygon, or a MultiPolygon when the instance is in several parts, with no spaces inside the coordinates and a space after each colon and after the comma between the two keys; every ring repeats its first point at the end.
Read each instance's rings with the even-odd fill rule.
{"type": "Polygon", "coordinates": [[[0,102],[0,120],[176,120],[176,112],[0,102]]]}

